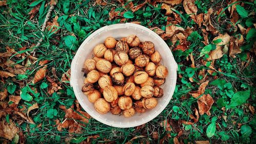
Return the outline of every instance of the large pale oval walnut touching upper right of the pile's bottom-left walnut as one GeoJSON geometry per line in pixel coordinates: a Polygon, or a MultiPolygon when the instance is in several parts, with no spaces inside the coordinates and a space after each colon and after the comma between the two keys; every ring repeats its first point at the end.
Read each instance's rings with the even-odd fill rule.
{"type": "Polygon", "coordinates": [[[116,89],[111,85],[105,86],[103,97],[107,102],[115,101],[118,98],[116,89]]]}

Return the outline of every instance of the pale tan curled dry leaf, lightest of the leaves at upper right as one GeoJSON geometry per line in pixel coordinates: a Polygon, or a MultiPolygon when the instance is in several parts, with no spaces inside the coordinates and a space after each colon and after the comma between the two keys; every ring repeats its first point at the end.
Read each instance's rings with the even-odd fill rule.
{"type": "Polygon", "coordinates": [[[220,34],[219,36],[215,37],[212,41],[217,39],[221,39],[222,41],[216,43],[216,49],[209,53],[209,58],[207,58],[207,61],[219,59],[223,56],[223,53],[228,52],[230,36],[228,34],[220,34]]]}

